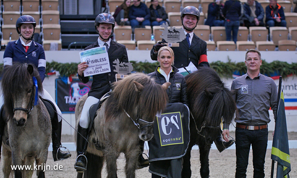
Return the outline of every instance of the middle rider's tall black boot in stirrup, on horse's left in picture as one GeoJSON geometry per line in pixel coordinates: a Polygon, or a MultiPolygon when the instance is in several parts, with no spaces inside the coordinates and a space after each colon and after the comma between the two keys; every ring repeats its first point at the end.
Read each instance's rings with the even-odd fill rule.
{"type": "Polygon", "coordinates": [[[78,173],[83,173],[83,171],[87,169],[88,160],[84,155],[84,153],[88,147],[88,142],[86,139],[88,139],[89,129],[80,127],[78,123],[77,131],[78,131],[77,139],[76,139],[77,158],[74,164],[74,168],[78,173]]]}

